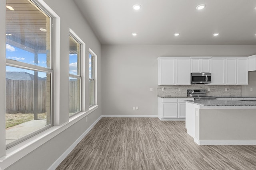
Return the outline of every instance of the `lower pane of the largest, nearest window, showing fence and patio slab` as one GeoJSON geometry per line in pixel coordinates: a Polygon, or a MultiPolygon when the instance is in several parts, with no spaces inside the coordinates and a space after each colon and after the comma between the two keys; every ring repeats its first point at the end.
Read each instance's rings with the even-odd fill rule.
{"type": "Polygon", "coordinates": [[[6,145],[51,124],[50,73],[6,66],[6,145]]]}

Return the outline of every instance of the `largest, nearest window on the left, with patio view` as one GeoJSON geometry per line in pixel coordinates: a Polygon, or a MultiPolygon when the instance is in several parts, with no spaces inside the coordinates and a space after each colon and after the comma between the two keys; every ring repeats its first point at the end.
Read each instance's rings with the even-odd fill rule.
{"type": "Polygon", "coordinates": [[[52,125],[53,19],[30,0],[6,0],[6,5],[8,148],[52,125]]]}

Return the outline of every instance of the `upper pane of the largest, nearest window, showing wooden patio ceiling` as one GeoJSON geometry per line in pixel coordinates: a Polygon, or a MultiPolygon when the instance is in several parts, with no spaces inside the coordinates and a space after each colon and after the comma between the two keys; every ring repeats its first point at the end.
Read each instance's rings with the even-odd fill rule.
{"type": "Polygon", "coordinates": [[[50,17],[28,0],[6,5],[6,59],[50,68],[50,17]]]}

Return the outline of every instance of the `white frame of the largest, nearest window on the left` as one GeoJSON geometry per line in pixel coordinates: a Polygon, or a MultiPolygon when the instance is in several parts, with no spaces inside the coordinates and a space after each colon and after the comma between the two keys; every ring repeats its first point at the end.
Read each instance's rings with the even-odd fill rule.
{"type": "Polygon", "coordinates": [[[30,0],[32,4],[36,8],[38,8],[40,11],[44,13],[44,15],[48,16],[50,18],[50,59],[49,59],[49,66],[48,67],[43,67],[43,66],[38,66],[36,64],[29,64],[29,63],[23,63],[20,61],[12,60],[12,59],[6,59],[6,66],[12,66],[16,68],[22,68],[22,69],[27,69],[27,70],[32,70],[34,72],[45,72],[50,74],[50,123],[46,126],[43,127],[37,131],[34,131],[33,133],[30,133],[28,135],[25,135],[24,137],[21,137],[20,139],[17,139],[16,141],[9,143],[6,145],[6,149],[9,149],[10,147],[13,147],[14,145],[17,145],[18,143],[21,143],[22,141],[25,141],[26,139],[31,138],[34,135],[37,135],[38,133],[45,131],[46,129],[49,129],[54,125],[54,104],[53,104],[53,96],[54,96],[54,16],[46,8],[44,8],[41,4],[38,4],[34,0],[30,0]]]}

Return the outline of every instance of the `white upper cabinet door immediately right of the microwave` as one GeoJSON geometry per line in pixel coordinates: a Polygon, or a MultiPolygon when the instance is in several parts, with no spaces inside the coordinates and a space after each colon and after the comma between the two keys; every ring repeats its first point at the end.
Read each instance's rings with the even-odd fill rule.
{"type": "Polygon", "coordinates": [[[225,59],[211,59],[211,84],[225,84],[225,59]]]}

